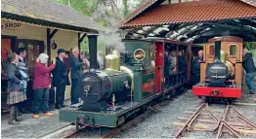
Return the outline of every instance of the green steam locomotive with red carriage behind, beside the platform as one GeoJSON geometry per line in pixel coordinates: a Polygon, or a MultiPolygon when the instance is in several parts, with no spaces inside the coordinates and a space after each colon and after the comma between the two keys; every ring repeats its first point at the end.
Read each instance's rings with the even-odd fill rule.
{"type": "MultiPolygon", "coordinates": [[[[190,70],[164,77],[164,51],[183,51],[192,60],[198,46],[172,40],[123,40],[125,52],[106,55],[106,69],[90,69],[78,81],[83,104],[60,110],[60,120],[81,126],[116,127],[144,113],[152,103],[173,91],[181,91],[190,81],[190,70]],[[187,78],[183,78],[183,77],[187,78]]],[[[178,59],[178,58],[177,58],[178,59]]],[[[188,62],[188,69],[191,62],[188,62]]]]}

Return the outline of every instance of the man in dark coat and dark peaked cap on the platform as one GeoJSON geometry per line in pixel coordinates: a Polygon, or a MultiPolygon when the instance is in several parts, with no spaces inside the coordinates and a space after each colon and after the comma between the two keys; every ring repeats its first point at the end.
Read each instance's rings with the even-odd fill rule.
{"type": "Polygon", "coordinates": [[[56,66],[53,71],[53,86],[56,87],[56,109],[64,108],[64,91],[68,84],[67,66],[64,63],[65,50],[59,49],[56,57],[56,66]]]}

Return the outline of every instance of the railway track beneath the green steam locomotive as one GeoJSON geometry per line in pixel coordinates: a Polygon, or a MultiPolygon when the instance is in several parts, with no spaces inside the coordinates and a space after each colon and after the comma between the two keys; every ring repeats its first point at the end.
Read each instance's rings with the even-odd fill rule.
{"type": "MultiPolygon", "coordinates": [[[[149,117],[150,114],[152,114],[155,110],[157,110],[159,108],[159,106],[168,105],[169,101],[170,101],[169,99],[166,99],[166,100],[164,100],[164,101],[162,101],[162,102],[160,102],[158,104],[155,104],[152,107],[149,107],[149,110],[146,111],[144,114],[139,115],[135,119],[133,119],[133,120],[131,120],[129,122],[126,122],[126,123],[122,124],[119,127],[116,127],[116,128],[105,128],[105,129],[107,129],[107,131],[105,131],[105,132],[102,131],[102,129],[100,129],[99,137],[97,137],[97,138],[110,138],[110,137],[116,136],[121,131],[123,131],[123,130],[125,130],[125,129],[133,126],[133,125],[136,125],[139,122],[143,122],[145,119],[147,119],[149,117]]],[[[101,127],[99,127],[99,128],[101,128],[101,127]]],[[[86,129],[86,127],[84,129],[86,129]]],[[[82,132],[82,130],[78,130],[77,132],[75,132],[75,133],[73,133],[71,135],[68,135],[65,138],[79,138],[80,132],[82,132]]],[[[83,136],[86,137],[87,136],[86,133],[83,134],[83,136]]]]}

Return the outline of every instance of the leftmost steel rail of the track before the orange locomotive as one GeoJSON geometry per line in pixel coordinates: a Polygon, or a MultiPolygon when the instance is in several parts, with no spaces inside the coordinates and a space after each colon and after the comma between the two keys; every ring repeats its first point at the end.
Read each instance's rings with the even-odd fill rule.
{"type": "MultiPolygon", "coordinates": [[[[191,118],[185,123],[185,125],[178,131],[178,133],[175,135],[175,138],[180,138],[180,137],[181,137],[182,133],[183,133],[184,131],[186,131],[186,129],[188,128],[188,125],[189,125],[190,123],[194,122],[194,120],[195,120],[194,117],[195,117],[195,116],[198,114],[198,112],[200,112],[200,110],[202,110],[205,106],[206,106],[205,103],[202,103],[202,104],[201,104],[201,106],[199,107],[199,109],[197,109],[197,111],[192,114],[192,117],[191,117],[191,118]]],[[[198,116],[198,115],[197,115],[197,116],[198,116]]]]}

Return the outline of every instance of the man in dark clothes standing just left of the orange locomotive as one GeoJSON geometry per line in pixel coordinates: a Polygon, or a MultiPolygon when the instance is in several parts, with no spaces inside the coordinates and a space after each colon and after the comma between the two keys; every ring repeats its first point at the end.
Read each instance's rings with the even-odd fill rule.
{"type": "Polygon", "coordinates": [[[192,60],[192,86],[200,82],[200,62],[203,61],[202,50],[198,52],[198,55],[192,60]]]}

